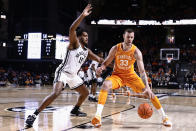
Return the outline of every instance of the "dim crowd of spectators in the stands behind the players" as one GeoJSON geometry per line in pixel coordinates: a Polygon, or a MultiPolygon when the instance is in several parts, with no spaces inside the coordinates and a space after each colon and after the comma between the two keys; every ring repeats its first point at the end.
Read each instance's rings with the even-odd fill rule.
{"type": "MultiPolygon", "coordinates": [[[[151,51],[151,50],[149,50],[151,51]]],[[[188,52],[188,51],[187,51],[188,52]]],[[[181,52],[181,58],[183,59],[183,53],[181,52]]],[[[150,53],[147,53],[150,54],[150,53]]],[[[151,54],[153,54],[153,51],[151,51],[151,54]]],[[[178,82],[178,76],[179,71],[181,70],[180,65],[183,64],[182,61],[172,61],[171,63],[167,63],[167,61],[161,61],[159,59],[154,58],[153,55],[146,56],[144,54],[144,61],[145,61],[145,69],[147,72],[148,77],[152,81],[153,87],[165,87],[169,86],[169,83],[177,83],[178,82]],[[151,57],[152,56],[152,57],[151,57]]],[[[184,55],[186,58],[186,55],[184,55]]],[[[190,57],[193,58],[193,57],[190,57]]],[[[189,59],[189,61],[194,62],[194,60],[189,59]]],[[[90,61],[87,61],[81,68],[80,71],[83,71],[85,75],[86,71],[88,69],[88,66],[90,64],[90,61]]],[[[10,64],[11,65],[11,64],[10,64]]],[[[51,64],[50,66],[54,66],[53,69],[56,68],[58,64],[51,64]]],[[[14,66],[14,64],[12,65],[14,66]]],[[[193,66],[195,67],[195,66],[193,66]]],[[[50,69],[50,68],[48,68],[50,69]]],[[[108,69],[112,70],[112,69],[108,69]]],[[[139,74],[137,70],[137,66],[135,65],[135,70],[139,74]]],[[[104,79],[109,75],[110,71],[104,73],[102,78],[104,79]]],[[[48,71],[48,73],[43,72],[41,70],[39,71],[33,71],[33,70],[25,70],[25,69],[14,69],[12,67],[0,67],[0,86],[31,86],[31,85],[51,85],[53,83],[53,77],[54,74],[52,73],[54,71],[48,71]]],[[[88,77],[88,76],[86,76],[88,77]]],[[[183,84],[184,86],[196,86],[196,72],[193,69],[193,72],[187,71],[183,75],[183,84]],[[185,85],[186,84],[186,85],[185,85]],[[187,85],[188,84],[188,85],[187,85]]],[[[84,81],[86,84],[88,84],[88,79],[85,79],[84,81]]],[[[98,82],[99,85],[101,85],[101,82],[103,80],[100,80],[98,82]]],[[[177,84],[179,86],[179,84],[177,84]]]]}

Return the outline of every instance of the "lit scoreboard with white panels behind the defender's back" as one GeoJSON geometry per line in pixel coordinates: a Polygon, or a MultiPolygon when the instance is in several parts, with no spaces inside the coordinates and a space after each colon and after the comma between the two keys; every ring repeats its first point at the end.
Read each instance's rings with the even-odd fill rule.
{"type": "Polygon", "coordinates": [[[33,33],[16,35],[10,58],[28,60],[63,59],[69,45],[61,34],[33,33]]]}

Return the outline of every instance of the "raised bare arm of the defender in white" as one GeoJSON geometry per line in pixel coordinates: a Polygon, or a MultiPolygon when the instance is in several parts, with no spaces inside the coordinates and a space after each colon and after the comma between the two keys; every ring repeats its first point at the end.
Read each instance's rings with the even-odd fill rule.
{"type": "Polygon", "coordinates": [[[76,29],[80,25],[81,21],[88,15],[91,14],[91,4],[88,4],[86,8],[83,10],[83,12],[80,14],[80,16],[72,23],[72,25],[69,28],[69,49],[74,49],[79,46],[79,41],[77,39],[76,35],[76,29]]]}

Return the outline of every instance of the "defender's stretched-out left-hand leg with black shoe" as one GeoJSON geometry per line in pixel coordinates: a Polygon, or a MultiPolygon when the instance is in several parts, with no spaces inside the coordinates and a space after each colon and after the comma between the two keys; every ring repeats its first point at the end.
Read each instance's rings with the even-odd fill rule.
{"type": "Polygon", "coordinates": [[[27,117],[27,120],[25,121],[25,124],[27,127],[32,127],[33,123],[37,117],[37,115],[44,110],[48,105],[50,105],[61,93],[62,89],[64,87],[63,82],[56,82],[53,85],[53,92],[45,97],[42,104],[39,106],[39,108],[32,114],[27,117]]]}

